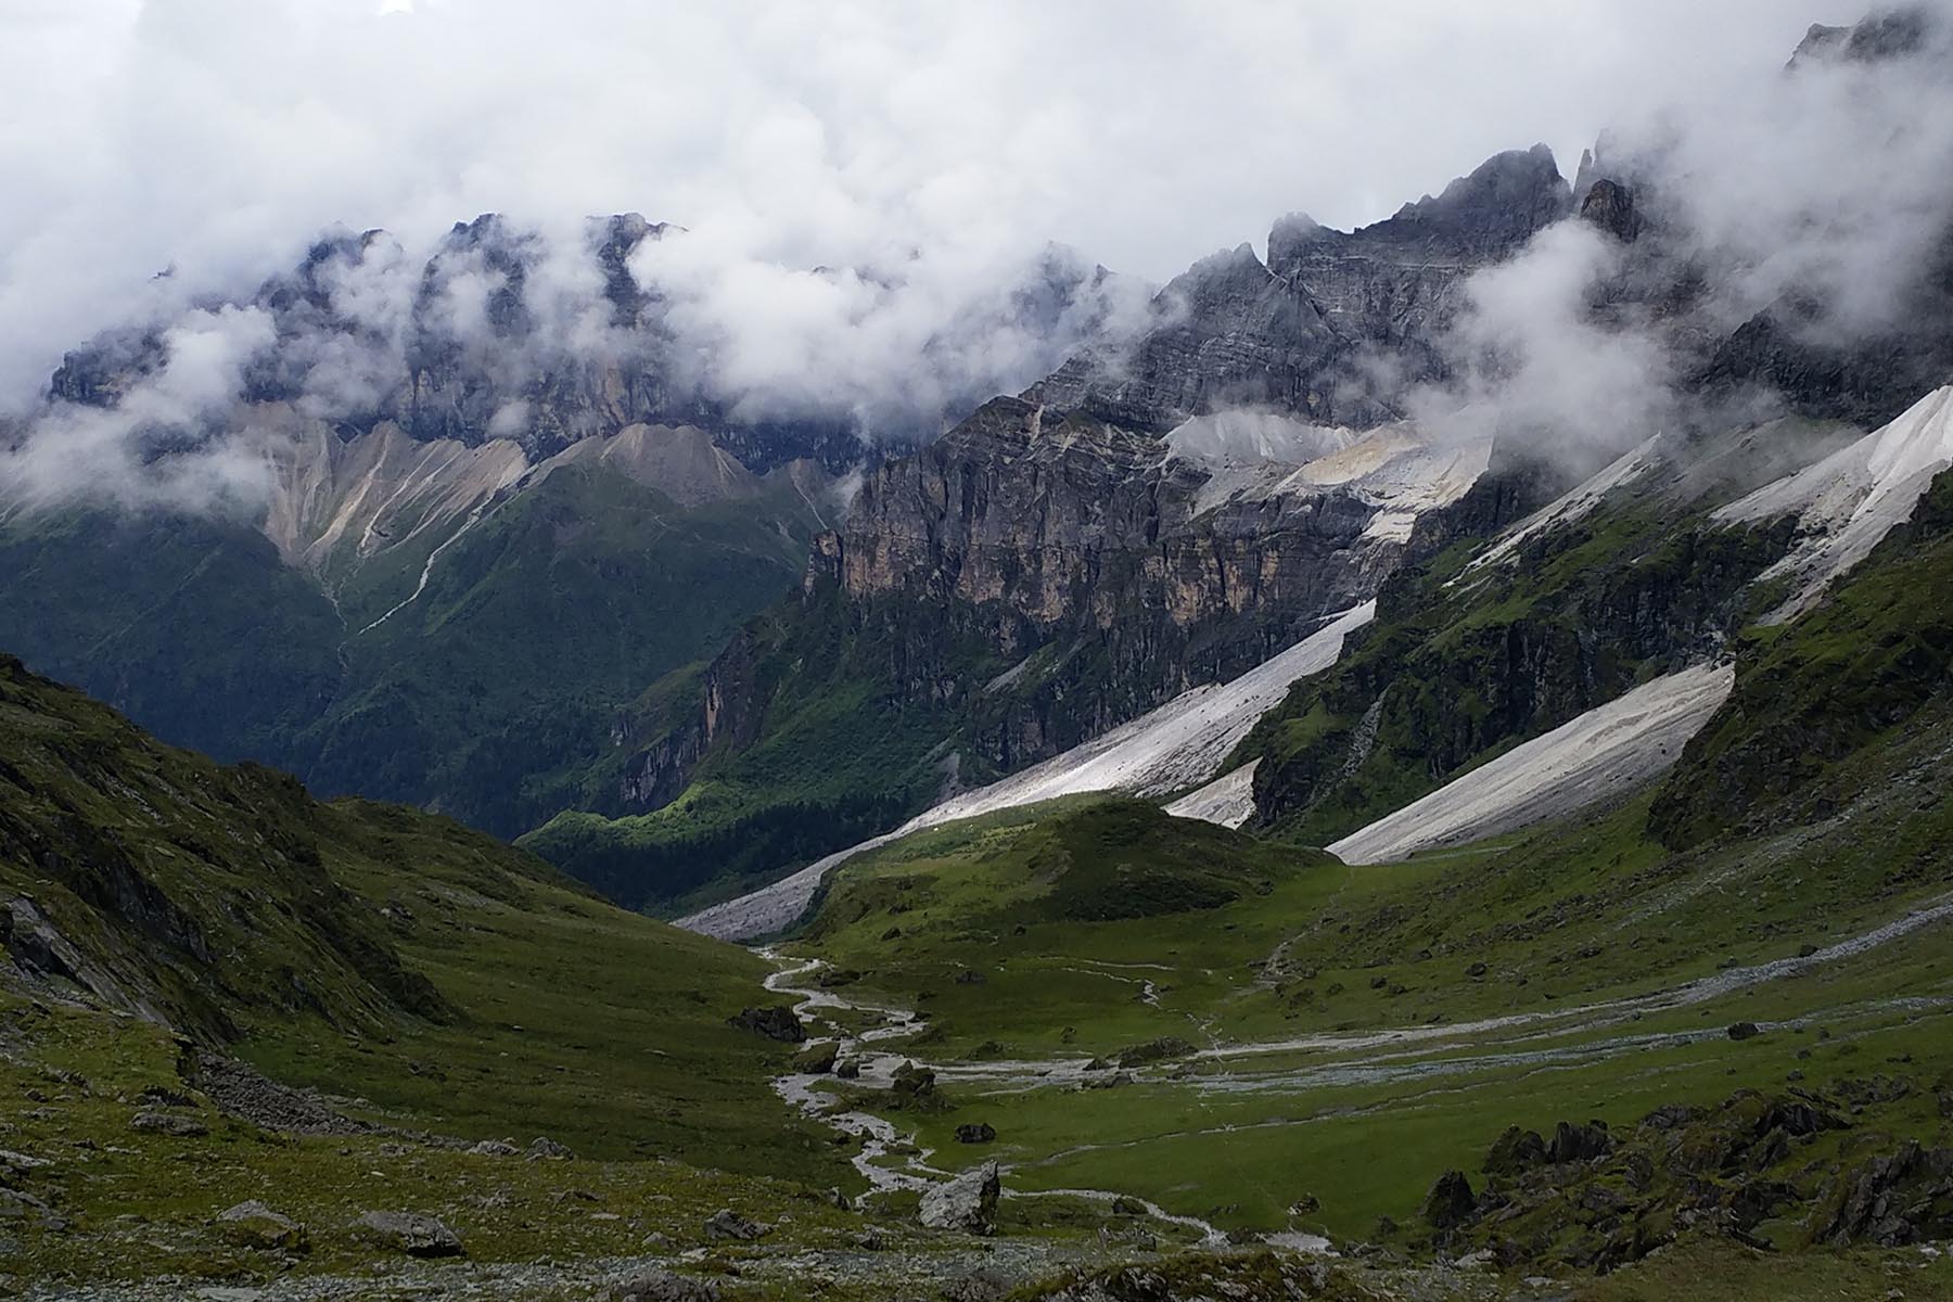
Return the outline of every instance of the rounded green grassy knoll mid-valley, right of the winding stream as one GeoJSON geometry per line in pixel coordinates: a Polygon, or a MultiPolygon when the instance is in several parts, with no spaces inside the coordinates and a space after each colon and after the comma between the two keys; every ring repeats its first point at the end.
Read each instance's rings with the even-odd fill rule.
{"type": "Polygon", "coordinates": [[[848,863],[799,945],[857,974],[853,988],[928,1011],[918,1052],[1109,1054],[1187,1035],[1184,1007],[1228,999],[1279,941],[1264,919],[1307,908],[1332,869],[1139,800],[1066,800],[848,863]],[[1174,994],[1148,1001],[1148,978],[1174,994]]]}

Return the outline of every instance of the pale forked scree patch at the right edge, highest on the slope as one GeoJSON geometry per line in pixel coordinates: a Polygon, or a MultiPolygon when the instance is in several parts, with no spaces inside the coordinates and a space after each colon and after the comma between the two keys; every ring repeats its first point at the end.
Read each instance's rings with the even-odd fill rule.
{"type": "Polygon", "coordinates": [[[1857,443],[1717,511],[1723,523],[1797,515],[1805,529],[1791,554],[1760,578],[1793,580],[1789,599],[1764,623],[1783,623],[1810,609],[1826,584],[1912,519],[1912,508],[1947,467],[1953,467],[1953,385],[1926,394],[1857,443]]]}

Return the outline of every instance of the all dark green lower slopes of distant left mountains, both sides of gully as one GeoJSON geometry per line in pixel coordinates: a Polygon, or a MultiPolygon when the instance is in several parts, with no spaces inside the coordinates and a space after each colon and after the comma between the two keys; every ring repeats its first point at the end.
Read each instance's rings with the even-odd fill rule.
{"type": "Polygon", "coordinates": [[[484,511],[371,627],[414,593],[432,543],[328,597],[244,519],[18,513],[0,521],[0,646],[176,744],[516,835],[566,806],[619,808],[623,707],[773,603],[814,527],[783,478],[680,508],[562,467],[484,511]]]}

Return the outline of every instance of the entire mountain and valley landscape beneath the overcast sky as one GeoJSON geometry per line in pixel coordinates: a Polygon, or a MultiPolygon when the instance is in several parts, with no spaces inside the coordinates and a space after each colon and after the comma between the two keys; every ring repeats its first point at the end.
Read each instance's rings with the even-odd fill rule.
{"type": "Polygon", "coordinates": [[[875,400],[742,388],[635,215],[70,351],[8,1282],[1953,1296],[1953,193],[1875,277],[1695,148],[1047,250],[875,400]]]}

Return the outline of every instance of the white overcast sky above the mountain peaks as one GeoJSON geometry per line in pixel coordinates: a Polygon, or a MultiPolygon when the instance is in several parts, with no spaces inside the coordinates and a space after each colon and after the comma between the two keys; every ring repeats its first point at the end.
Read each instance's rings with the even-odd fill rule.
{"type": "Polygon", "coordinates": [[[789,265],[1166,279],[1773,74],[1865,0],[0,0],[0,400],[164,265],[637,209],[789,265]]]}

